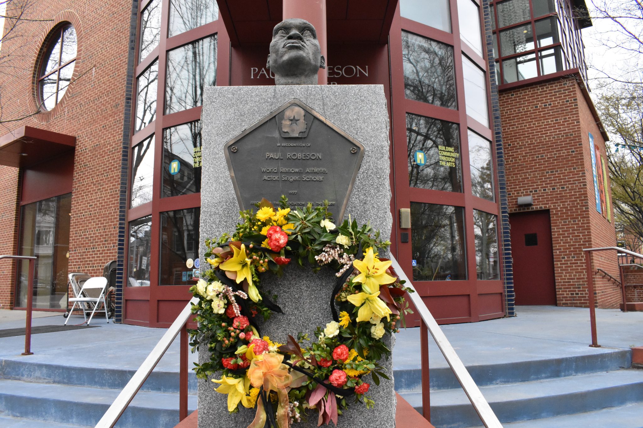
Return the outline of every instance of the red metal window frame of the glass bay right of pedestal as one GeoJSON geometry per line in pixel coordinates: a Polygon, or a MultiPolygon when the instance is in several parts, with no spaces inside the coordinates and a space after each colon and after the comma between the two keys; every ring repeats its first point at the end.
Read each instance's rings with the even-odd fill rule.
{"type": "MultiPolygon", "coordinates": [[[[472,0],[468,0],[472,1],[472,0]]],[[[484,30],[483,7],[478,1],[480,16],[480,26],[484,30]]],[[[496,153],[494,150],[494,135],[490,126],[493,126],[493,110],[491,109],[491,83],[489,76],[489,64],[487,64],[486,37],[485,31],[482,31],[483,55],[480,56],[471,49],[465,42],[460,39],[460,22],[458,20],[457,0],[449,0],[449,10],[451,16],[451,33],[431,28],[419,22],[401,17],[399,14],[399,5],[395,13],[395,19],[390,31],[390,66],[391,66],[391,85],[392,85],[392,135],[393,151],[392,162],[394,164],[394,225],[399,232],[409,232],[412,230],[401,230],[399,225],[399,216],[397,215],[400,208],[410,207],[410,203],[435,203],[440,205],[452,205],[455,207],[464,207],[465,216],[465,253],[467,264],[467,280],[453,281],[414,281],[413,284],[418,293],[430,304],[433,296],[467,296],[469,300],[469,316],[460,316],[457,318],[444,318],[439,320],[440,323],[461,323],[471,321],[481,321],[490,318],[498,318],[504,314],[504,290],[502,279],[498,280],[478,280],[476,278],[476,257],[475,257],[475,234],[473,225],[473,210],[481,210],[496,216],[496,232],[498,233],[498,253],[502,258],[502,246],[500,244],[500,194],[498,183],[494,179],[494,201],[485,200],[473,196],[471,193],[471,173],[469,164],[469,142],[467,138],[467,128],[478,133],[491,142],[492,162],[494,167],[494,176],[497,174],[496,153]],[[453,64],[455,66],[455,78],[457,89],[458,109],[453,110],[446,107],[437,107],[421,101],[406,99],[404,96],[404,71],[403,71],[403,47],[402,31],[407,31],[428,39],[436,40],[453,47],[453,64]],[[466,114],[466,100],[464,98],[464,72],[462,69],[462,54],[466,55],[474,64],[485,71],[485,85],[487,90],[487,111],[489,114],[489,126],[479,123],[466,114]],[[460,164],[462,167],[462,193],[449,191],[436,191],[431,189],[417,189],[408,185],[408,148],[406,146],[406,113],[417,114],[420,116],[430,117],[457,123],[460,128],[460,164]],[[497,312],[485,313],[482,304],[480,304],[480,295],[496,294],[502,296],[502,305],[498,307],[497,312]]],[[[411,242],[412,239],[409,239],[411,242]]],[[[411,243],[401,243],[399,237],[395,239],[392,252],[397,256],[400,265],[409,277],[412,277],[412,247],[411,243]]],[[[502,261],[499,261],[500,278],[502,278],[502,261]]]]}

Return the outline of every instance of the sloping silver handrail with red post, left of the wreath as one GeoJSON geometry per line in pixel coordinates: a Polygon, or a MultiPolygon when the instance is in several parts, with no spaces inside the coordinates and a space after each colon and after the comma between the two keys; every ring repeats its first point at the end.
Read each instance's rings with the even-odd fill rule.
{"type": "Polygon", "coordinates": [[[129,406],[134,395],[136,395],[138,390],[141,389],[143,382],[147,380],[147,377],[152,373],[156,364],[161,361],[161,357],[163,357],[165,351],[167,351],[170,345],[172,345],[172,342],[176,339],[176,336],[178,336],[179,333],[181,333],[181,367],[179,368],[179,377],[181,378],[179,381],[179,394],[181,397],[179,397],[179,419],[185,418],[187,413],[188,392],[187,361],[186,358],[184,359],[184,355],[186,355],[187,352],[185,325],[190,319],[190,315],[192,315],[192,304],[197,303],[199,303],[199,298],[193,297],[183,308],[179,316],[176,317],[176,320],[174,320],[172,325],[170,325],[170,328],[167,329],[165,334],[163,334],[163,337],[158,341],[154,349],[152,349],[152,352],[147,355],[143,364],[141,364],[138,370],[136,370],[132,379],[127,382],[125,388],[123,388],[120,394],[118,394],[118,397],[116,397],[116,400],[114,400],[112,405],[109,406],[105,415],[100,418],[98,424],[96,424],[96,428],[112,428],[116,425],[118,418],[120,418],[125,409],[127,409],[127,406],[129,406]]]}

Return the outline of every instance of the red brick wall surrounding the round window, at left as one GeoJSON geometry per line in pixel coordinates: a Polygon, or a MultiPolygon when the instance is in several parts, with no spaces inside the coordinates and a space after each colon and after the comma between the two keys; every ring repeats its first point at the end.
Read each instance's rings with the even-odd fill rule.
{"type": "MultiPolygon", "coordinates": [[[[127,53],[132,3],[128,1],[47,0],[32,2],[30,19],[19,31],[30,37],[23,56],[12,58],[13,75],[0,73],[2,119],[35,112],[34,69],[46,34],[59,22],[71,22],[78,37],[78,56],[72,83],[50,112],[7,123],[5,134],[34,126],[77,137],[69,271],[102,273],[116,259],[122,135],[127,76],[127,53]],[[10,100],[10,101],[6,101],[10,100]]],[[[3,53],[17,47],[3,43],[3,53]]],[[[13,44],[13,45],[12,45],[13,44]]],[[[15,168],[0,167],[0,253],[17,251],[17,183],[15,168]]],[[[0,303],[11,305],[14,273],[0,262],[0,303]]]]}

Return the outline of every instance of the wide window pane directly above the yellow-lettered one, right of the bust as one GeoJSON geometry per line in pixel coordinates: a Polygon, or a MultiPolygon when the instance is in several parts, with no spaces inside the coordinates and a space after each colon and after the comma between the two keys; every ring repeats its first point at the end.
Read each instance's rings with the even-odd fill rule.
{"type": "Polygon", "coordinates": [[[402,55],[406,98],[457,108],[453,47],[403,31],[402,55]]]}

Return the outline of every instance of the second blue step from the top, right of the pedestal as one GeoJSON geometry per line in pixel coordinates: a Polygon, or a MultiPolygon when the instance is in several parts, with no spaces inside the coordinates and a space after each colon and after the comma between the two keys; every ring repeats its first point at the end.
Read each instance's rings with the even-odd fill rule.
{"type": "MultiPolygon", "coordinates": [[[[643,403],[643,371],[626,369],[482,386],[480,391],[500,422],[518,422],[643,403]]],[[[400,395],[422,411],[421,391],[400,395]]],[[[471,427],[480,425],[480,419],[461,388],[442,389],[431,391],[431,423],[444,428],[471,427]]]]}

